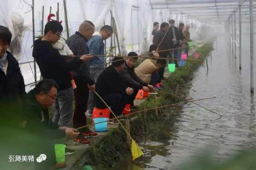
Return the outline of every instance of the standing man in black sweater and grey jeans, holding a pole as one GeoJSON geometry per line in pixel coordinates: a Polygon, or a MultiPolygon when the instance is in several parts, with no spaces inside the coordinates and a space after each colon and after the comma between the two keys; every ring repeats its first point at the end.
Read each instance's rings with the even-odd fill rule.
{"type": "Polygon", "coordinates": [[[73,115],[74,96],[69,72],[79,68],[83,61],[88,61],[92,56],[85,54],[71,62],[66,62],[58,50],[52,47],[52,44],[56,43],[61,37],[62,30],[61,23],[58,21],[48,22],[44,28],[43,38],[35,40],[33,57],[35,57],[40,68],[42,77],[44,79],[54,79],[59,86],[52,121],[59,126],[68,126],[73,115]]]}

